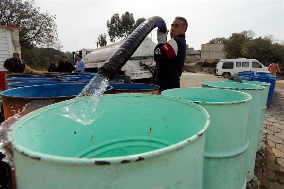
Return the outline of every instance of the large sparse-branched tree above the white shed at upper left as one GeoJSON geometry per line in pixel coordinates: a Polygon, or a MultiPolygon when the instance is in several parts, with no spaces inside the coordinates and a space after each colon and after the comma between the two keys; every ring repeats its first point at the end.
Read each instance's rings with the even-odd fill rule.
{"type": "Polygon", "coordinates": [[[0,24],[7,24],[20,29],[22,47],[40,46],[62,48],[58,40],[55,16],[41,12],[34,1],[1,0],[0,24]]]}

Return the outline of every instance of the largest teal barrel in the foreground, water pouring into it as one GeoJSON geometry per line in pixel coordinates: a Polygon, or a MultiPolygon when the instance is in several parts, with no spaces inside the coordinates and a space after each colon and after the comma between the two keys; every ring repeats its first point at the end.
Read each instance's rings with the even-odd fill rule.
{"type": "Polygon", "coordinates": [[[35,110],[8,132],[18,188],[202,188],[210,118],[201,106],[163,95],[102,95],[97,119],[84,126],[59,114],[69,102],[35,110]]]}

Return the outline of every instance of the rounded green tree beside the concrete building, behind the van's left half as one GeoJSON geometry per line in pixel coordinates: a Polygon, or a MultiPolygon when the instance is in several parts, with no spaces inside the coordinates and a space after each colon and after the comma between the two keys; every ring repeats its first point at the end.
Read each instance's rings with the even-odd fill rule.
{"type": "Polygon", "coordinates": [[[233,33],[229,38],[223,41],[223,51],[226,58],[243,58],[242,47],[243,44],[249,40],[242,33],[233,33]]]}

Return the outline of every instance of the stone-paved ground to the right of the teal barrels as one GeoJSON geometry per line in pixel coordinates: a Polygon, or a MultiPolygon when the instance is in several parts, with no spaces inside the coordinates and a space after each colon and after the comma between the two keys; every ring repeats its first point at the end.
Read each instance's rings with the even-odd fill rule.
{"type": "Polygon", "coordinates": [[[266,162],[261,189],[284,189],[284,87],[276,87],[272,105],[265,111],[266,162]]]}

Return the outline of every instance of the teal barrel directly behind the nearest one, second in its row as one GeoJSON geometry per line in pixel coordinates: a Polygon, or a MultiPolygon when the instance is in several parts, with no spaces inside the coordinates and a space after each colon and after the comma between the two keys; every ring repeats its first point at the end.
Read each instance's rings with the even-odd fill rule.
{"type": "Polygon", "coordinates": [[[205,136],[203,188],[245,189],[251,95],[227,89],[193,87],[168,89],[161,94],[190,100],[204,107],[210,115],[210,127],[205,136]],[[235,114],[228,114],[232,110],[235,114]]]}

